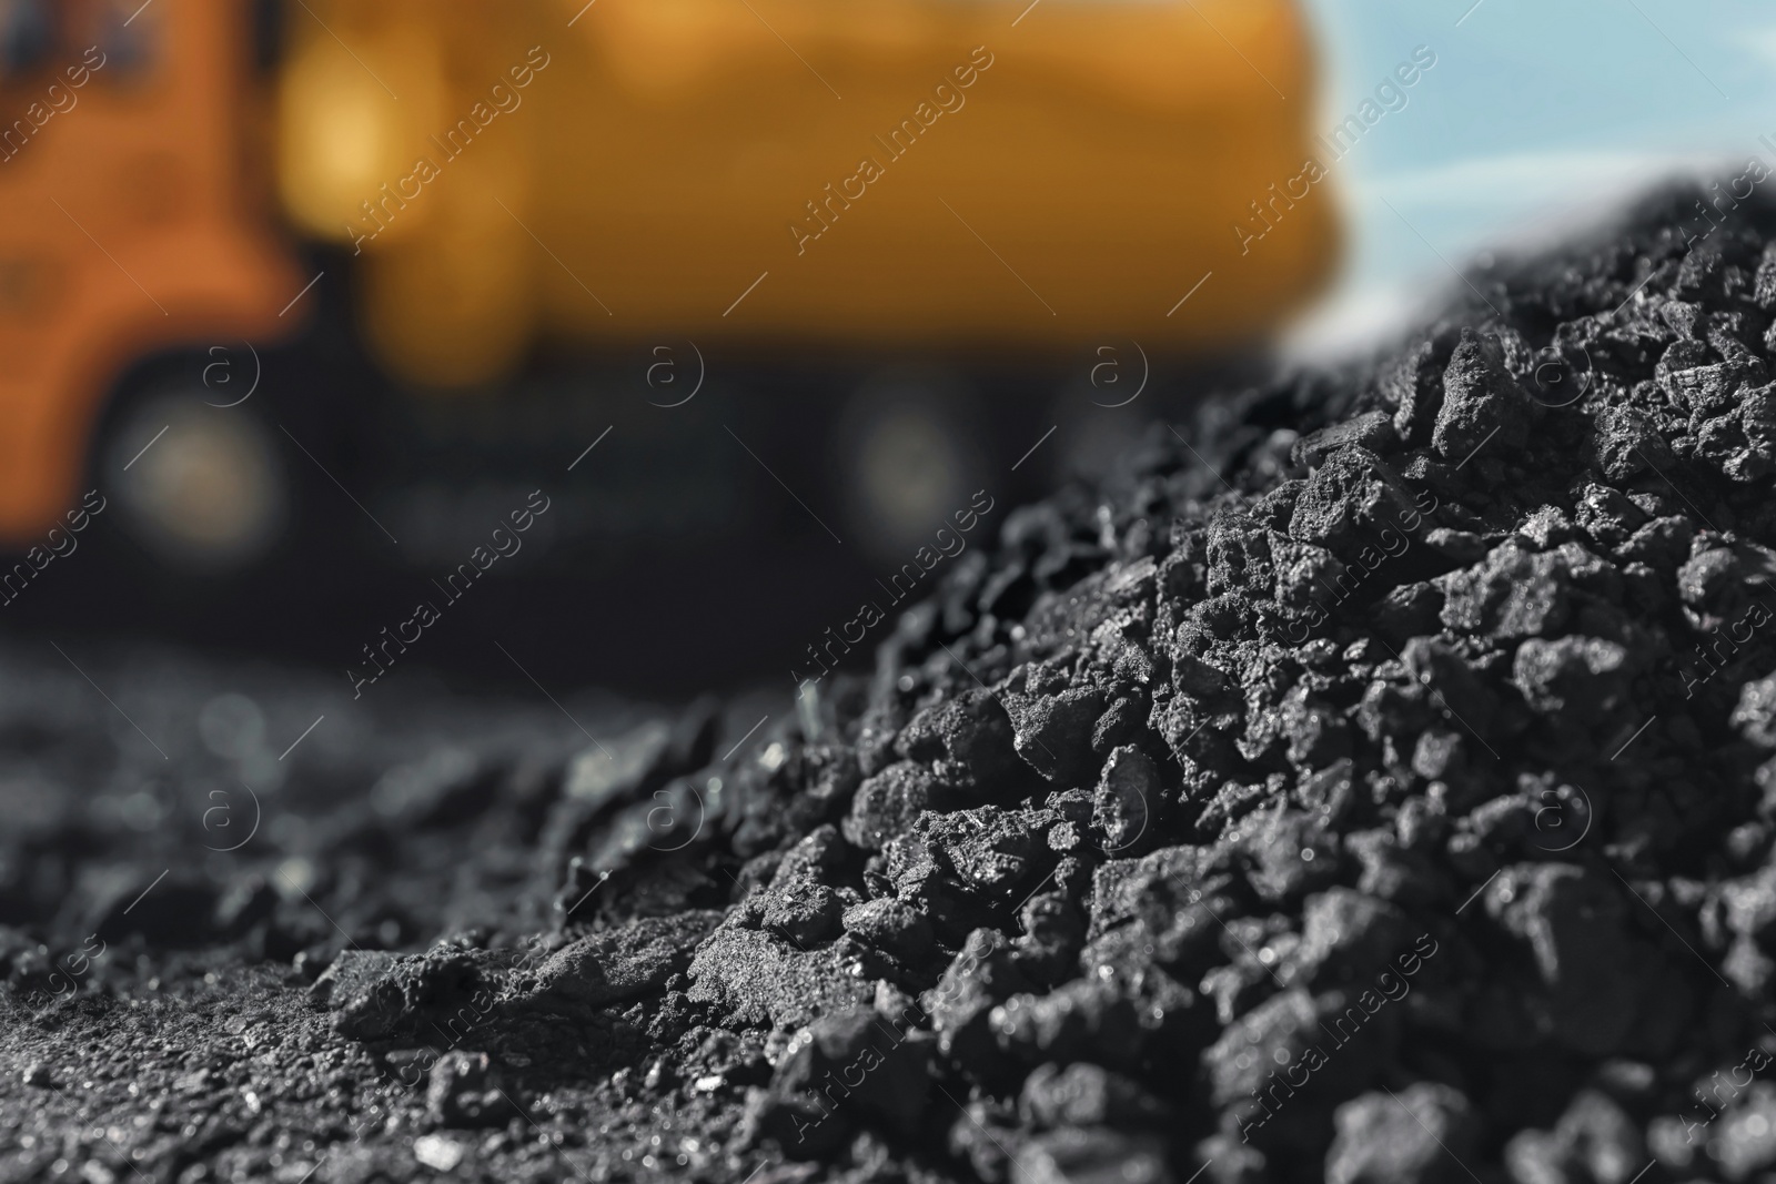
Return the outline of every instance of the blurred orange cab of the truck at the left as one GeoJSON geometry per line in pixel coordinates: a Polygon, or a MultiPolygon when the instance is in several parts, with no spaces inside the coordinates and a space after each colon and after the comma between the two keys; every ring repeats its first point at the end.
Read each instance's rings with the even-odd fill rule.
{"type": "Polygon", "coordinates": [[[133,360],[297,327],[252,69],[236,4],[0,4],[0,540],[80,502],[133,360]]]}

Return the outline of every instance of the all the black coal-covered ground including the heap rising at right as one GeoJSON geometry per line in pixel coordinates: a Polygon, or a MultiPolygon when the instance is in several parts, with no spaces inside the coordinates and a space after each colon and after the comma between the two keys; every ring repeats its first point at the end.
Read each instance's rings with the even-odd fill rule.
{"type": "Polygon", "coordinates": [[[799,705],[7,643],[0,1180],[1765,1179],[1776,213],[1691,199],[799,705]]]}

